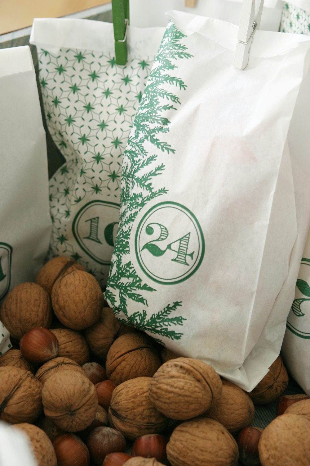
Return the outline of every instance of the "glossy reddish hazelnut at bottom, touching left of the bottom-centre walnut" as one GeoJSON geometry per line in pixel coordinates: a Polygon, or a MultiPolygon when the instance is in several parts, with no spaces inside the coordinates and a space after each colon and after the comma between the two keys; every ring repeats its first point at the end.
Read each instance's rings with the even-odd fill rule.
{"type": "Polygon", "coordinates": [[[148,434],[136,439],[132,445],[132,456],[155,458],[164,461],[166,458],[166,439],[163,435],[148,434]]]}

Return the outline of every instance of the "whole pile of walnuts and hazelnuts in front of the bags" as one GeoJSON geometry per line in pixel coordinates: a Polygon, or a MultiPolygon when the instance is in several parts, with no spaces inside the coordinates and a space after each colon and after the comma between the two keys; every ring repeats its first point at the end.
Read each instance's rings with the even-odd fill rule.
{"type": "Polygon", "coordinates": [[[13,288],[0,320],[13,343],[0,357],[0,420],[26,432],[39,466],[310,462],[310,399],[281,397],[280,356],[246,393],[119,322],[73,260],[52,259],[13,288]],[[251,426],[254,404],[276,399],[277,418],[251,426]]]}

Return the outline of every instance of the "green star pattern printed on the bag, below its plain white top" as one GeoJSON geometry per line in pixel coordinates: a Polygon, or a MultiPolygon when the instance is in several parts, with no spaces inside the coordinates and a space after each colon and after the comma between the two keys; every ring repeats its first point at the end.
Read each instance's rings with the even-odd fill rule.
{"type": "MultiPolygon", "coordinates": [[[[49,183],[53,233],[47,259],[66,255],[78,260],[104,288],[108,260],[92,254],[95,242],[89,234],[80,235],[81,242],[88,241],[80,247],[73,221],[89,202],[119,206],[122,157],[153,57],[130,56],[125,66],[116,65],[109,50],[38,49],[38,57],[47,128],[66,159],[49,183]]],[[[119,209],[114,211],[117,222],[119,209]]],[[[111,260],[112,247],[106,251],[111,260]]]]}

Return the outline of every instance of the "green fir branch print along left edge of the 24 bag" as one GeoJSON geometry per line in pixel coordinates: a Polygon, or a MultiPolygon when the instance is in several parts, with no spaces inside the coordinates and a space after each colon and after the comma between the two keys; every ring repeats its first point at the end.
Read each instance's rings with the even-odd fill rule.
{"type": "Polygon", "coordinates": [[[149,319],[146,317],[145,309],[142,309],[142,312],[134,312],[132,315],[128,314],[128,300],[147,307],[147,300],[141,292],[156,290],[142,281],[131,261],[126,262],[126,254],[130,252],[129,239],[132,224],[139,211],[152,199],[168,192],[164,186],[154,189],[152,181],[165,170],[165,165],[157,164],[158,155],[149,154],[144,144],[148,142],[154,146],[155,150],[167,155],[175,153],[175,149],[162,140],[163,135],[169,132],[170,121],[165,117],[165,113],[176,110],[174,105],[181,102],[179,97],[167,91],[165,86],[169,84],[181,90],[186,89],[182,79],[170,74],[176,68],[171,60],[188,59],[192,56],[186,52],[186,47],[181,42],[184,37],[185,35],[178,31],[171,22],[158,49],[154,67],[134,120],[133,130],[128,139],[123,157],[119,229],[105,293],[114,312],[117,314],[123,312],[125,315],[126,319],[121,319],[123,322],[152,334],[176,340],[180,339],[183,334],[171,329],[171,326],[181,326],[186,319],[182,316],[171,317],[171,313],[182,305],[181,302],[167,304],[163,310],[152,314],[149,319]],[[167,103],[163,104],[165,100],[167,103]]]}

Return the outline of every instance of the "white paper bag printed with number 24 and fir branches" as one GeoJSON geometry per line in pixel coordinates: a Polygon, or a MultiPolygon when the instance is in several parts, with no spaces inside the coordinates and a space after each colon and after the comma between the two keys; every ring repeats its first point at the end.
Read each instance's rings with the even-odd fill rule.
{"type": "Polygon", "coordinates": [[[310,223],[310,39],[173,12],[123,158],[106,299],[247,391],[280,352],[310,223]]]}

